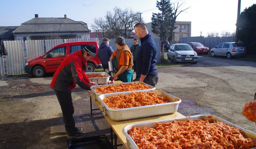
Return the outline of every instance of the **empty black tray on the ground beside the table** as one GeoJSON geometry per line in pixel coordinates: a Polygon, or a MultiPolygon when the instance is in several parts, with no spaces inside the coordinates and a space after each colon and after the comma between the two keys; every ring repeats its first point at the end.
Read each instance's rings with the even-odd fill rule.
{"type": "Polygon", "coordinates": [[[105,134],[100,136],[67,140],[68,149],[114,149],[105,134]]]}

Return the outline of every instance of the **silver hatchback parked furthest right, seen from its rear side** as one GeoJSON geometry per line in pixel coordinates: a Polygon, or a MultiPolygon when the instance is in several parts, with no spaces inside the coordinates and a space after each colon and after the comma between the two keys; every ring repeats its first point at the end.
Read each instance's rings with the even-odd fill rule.
{"type": "Polygon", "coordinates": [[[210,54],[212,57],[215,55],[226,56],[230,59],[232,56],[245,56],[246,49],[242,43],[221,43],[217,45],[215,48],[210,50],[210,54]]]}

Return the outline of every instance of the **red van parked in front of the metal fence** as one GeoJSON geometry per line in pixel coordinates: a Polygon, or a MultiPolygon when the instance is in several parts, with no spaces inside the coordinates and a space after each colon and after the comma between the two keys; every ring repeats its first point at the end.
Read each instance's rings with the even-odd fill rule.
{"type": "Polygon", "coordinates": [[[44,55],[27,61],[24,69],[26,73],[33,74],[35,77],[43,77],[45,73],[55,72],[60,63],[70,54],[83,49],[86,45],[96,46],[96,56],[92,61],[87,62],[86,72],[94,72],[95,68],[102,68],[100,59],[97,57],[98,42],[70,42],[63,43],[50,49],[44,55]]]}

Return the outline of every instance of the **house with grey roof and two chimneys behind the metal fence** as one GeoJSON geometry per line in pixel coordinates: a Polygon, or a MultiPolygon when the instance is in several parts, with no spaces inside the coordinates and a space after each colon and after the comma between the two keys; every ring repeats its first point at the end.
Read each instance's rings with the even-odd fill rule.
{"type": "Polygon", "coordinates": [[[90,38],[87,23],[64,18],[40,18],[38,14],[13,32],[15,40],[90,38]]]}

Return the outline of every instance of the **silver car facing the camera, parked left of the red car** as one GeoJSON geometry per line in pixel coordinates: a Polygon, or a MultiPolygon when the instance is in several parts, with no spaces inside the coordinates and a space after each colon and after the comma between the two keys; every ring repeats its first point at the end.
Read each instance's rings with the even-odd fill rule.
{"type": "Polygon", "coordinates": [[[167,59],[178,62],[191,62],[196,64],[197,53],[188,44],[172,44],[167,52],[167,59]]]}

